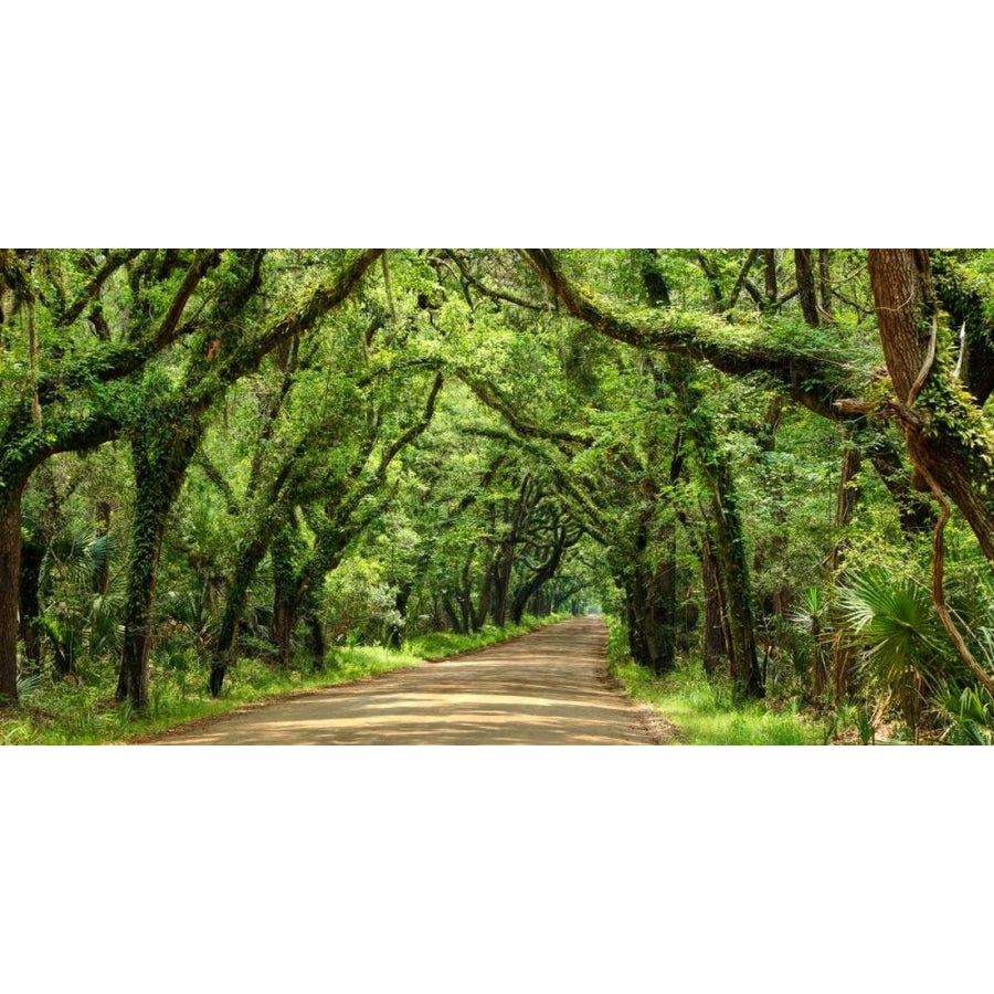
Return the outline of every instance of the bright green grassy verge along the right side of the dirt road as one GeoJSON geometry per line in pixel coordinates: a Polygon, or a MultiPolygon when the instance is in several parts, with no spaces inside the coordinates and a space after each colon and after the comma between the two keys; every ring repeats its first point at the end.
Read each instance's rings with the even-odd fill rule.
{"type": "Polygon", "coordinates": [[[639,704],[648,705],[676,726],[674,743],[688,745],[824,745],[826,730],[790,711],[776,713],[762,704],[732,704],[731,688],[710,683],[699,662],[657,677],[628,655],[624,626],[609,624],[611,675],[639,704]]]}

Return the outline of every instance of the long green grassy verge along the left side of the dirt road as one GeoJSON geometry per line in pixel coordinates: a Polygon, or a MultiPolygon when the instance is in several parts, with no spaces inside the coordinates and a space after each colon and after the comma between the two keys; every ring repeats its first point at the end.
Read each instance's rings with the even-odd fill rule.
{"type": "Polygon", "coordinates": [[[526,617],[520,625],[487,625],[476,635],[448,633],[420,635],[400,652],[381,646],[346,646],[334,649],[324,673],[278,670],[257,659],[241,659],[229,674],[221,697],[207,690],[207,673],[159,668],[152,673],[149,711],[134,715],[113,700],[117,681],[113,668],[86,674],[82,684],[28,685],[21,706],[0,710],[0,744],[94,745],[127,742],[169,731],[203,718],[216,718],[246,705],[263,704],[307,690],[348,684],[383,673],[421,666],[472,652],[560,620],[526,617]]]}

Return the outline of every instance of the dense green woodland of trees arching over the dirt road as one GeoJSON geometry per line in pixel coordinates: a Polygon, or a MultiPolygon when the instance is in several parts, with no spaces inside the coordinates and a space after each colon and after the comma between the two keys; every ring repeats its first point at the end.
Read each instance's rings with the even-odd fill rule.
{"type": "Polygon", "coordinates": [[[965,250],[0,250],[0,695],[141,713],[599,607],[709,707],[986,743],[992,284],[965,250]]]}

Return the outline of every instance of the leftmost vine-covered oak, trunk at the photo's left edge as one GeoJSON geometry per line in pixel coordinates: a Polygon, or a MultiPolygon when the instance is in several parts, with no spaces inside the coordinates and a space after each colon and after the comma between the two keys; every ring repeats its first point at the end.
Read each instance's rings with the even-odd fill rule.
{"type": "Polygon", "coordinates": [[[129,379],[197,328],[188,306],[221,254],[2,250],[4,299],[0,409],[0,698],[17,700],[21,501],[31,474],[60,452],[116,437],[129,379]],[[131,265],[130,278],[119,279],[131,265]],[[144,277],[144,278],[142,278],[144,277]],[[120,284],[113,287],[112,284],[120,284]],[[113,328],[106,311],[113,302],[113,328]],[[85,315],[85,317],[84,317],[85,315]],[[18,339],[11,328],[19,318],[18,339]],[[27,353],[27,355],[25,355],[27,353]],[[27,360],[27,361],[25,361],[27,360]]]}

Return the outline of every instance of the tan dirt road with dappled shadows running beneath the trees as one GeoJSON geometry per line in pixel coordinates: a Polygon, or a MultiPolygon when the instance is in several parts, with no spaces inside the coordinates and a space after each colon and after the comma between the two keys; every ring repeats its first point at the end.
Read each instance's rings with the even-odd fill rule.
{"type": "Polygon", "coordinates": [[[419,669],[265,705],[169,745],[652,744],[607,684],[604,623],[574,617],[419,669]]]}

